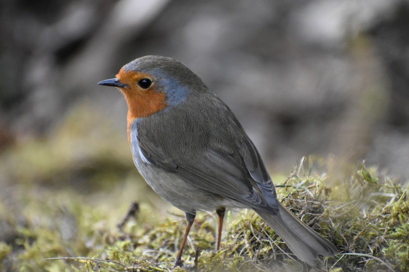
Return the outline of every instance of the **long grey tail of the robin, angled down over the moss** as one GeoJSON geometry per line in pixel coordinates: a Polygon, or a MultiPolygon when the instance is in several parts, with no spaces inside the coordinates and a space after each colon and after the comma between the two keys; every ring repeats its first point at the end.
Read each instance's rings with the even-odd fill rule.
{"type": "Polygon", "coordinates": [[[278,203],[279,213],[256,212],[287,244],[288,248],[301,261],[314,266],[318,255],[334,256],[338,249],[320,236],[287,208],[278,203]]]}

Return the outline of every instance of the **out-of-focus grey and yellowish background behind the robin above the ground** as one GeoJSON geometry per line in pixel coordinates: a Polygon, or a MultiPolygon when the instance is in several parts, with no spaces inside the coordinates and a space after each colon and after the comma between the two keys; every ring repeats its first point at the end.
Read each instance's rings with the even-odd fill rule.
{"type": "Polygon", "coordinates": [[[97,83],[152,54],[196,72],[271,173],[316,154],[409,176],[407,0],[0,5],[3,197],[15,183],[87,193],[137,178],[125,100],[97,83]]]}

